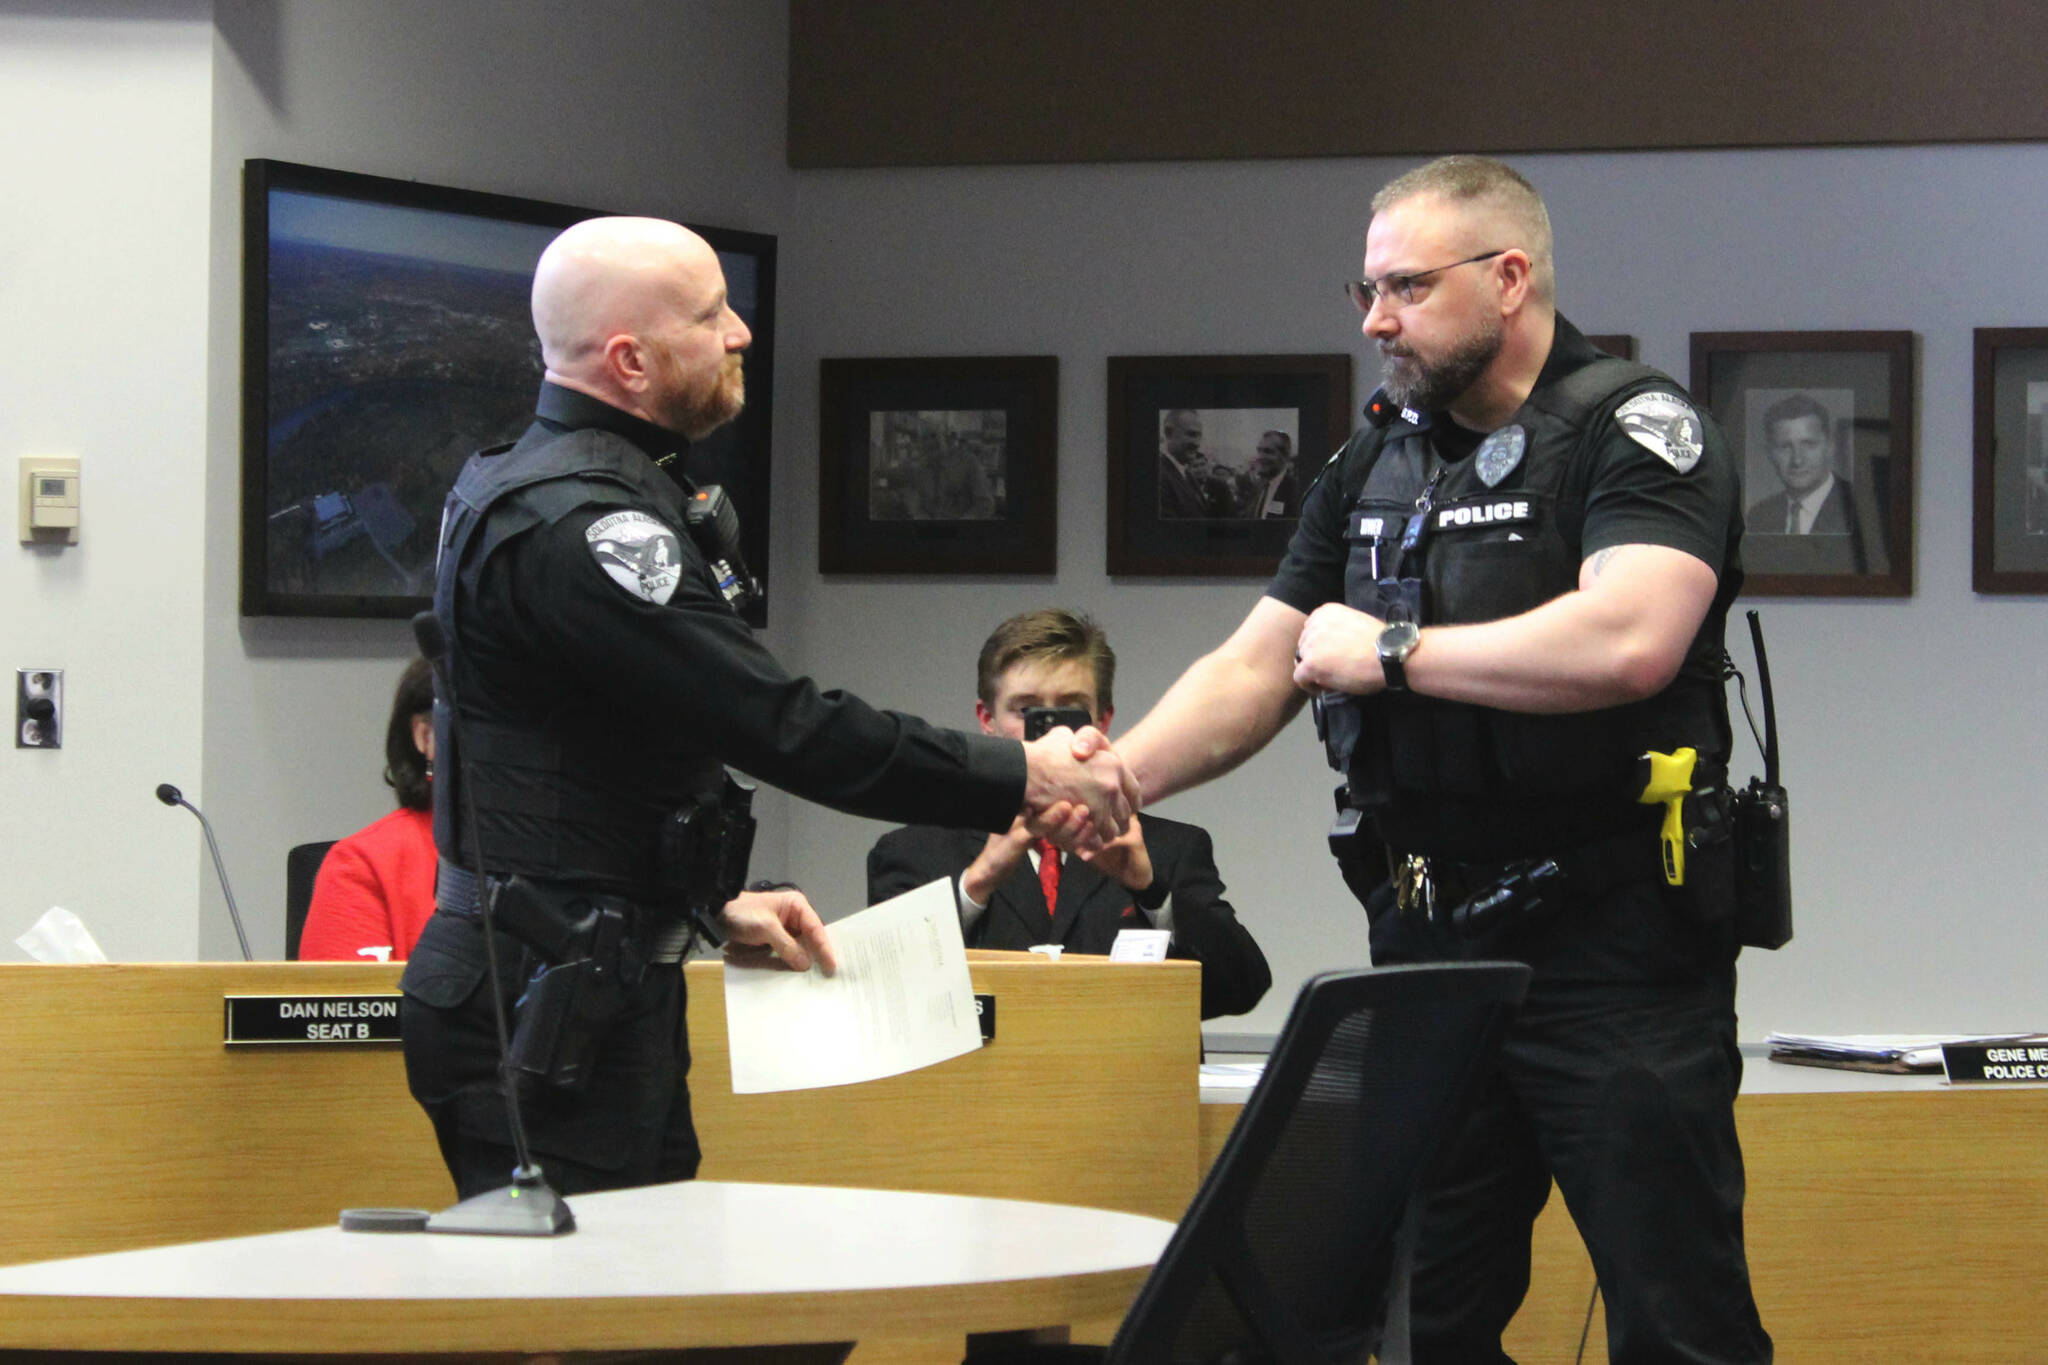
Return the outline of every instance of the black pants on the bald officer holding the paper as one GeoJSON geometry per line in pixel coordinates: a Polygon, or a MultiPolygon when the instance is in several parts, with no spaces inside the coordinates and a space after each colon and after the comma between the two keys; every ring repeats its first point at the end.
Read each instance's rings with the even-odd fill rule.
{"type": "MultiPolygon", "coordinates": [[[[500,939],[500,964],[510,968],[520,954],[506,952],[506,943],[500,939]]],[[[516,1164],[481,945],[475,919],[436,913],[401,982],[406,1085],[432,1119],[463,1199],[510,1183],[516,1164]]],[[[518,984],[508,984],[506,995],[516,999],[518,984]]],[[[520,1091],[526,1146],[549,1185],[573,1195],[694,1177],[688,1072],[682,968],[651,966],[598,1044],[582,1091],[520,1091]]]]}

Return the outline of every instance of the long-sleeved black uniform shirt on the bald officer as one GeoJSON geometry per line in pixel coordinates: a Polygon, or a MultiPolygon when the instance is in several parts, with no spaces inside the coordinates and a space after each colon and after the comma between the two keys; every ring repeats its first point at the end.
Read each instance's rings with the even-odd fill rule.
{"type": "MultiPolygon", "coordinates": [[[[608,403],[543,385],[535,426],[496,458],[592,430],[629,448],[641,479],[668,481],[653,460],[680,458],[686,446],[608,403]]],[[[852,814],[1010,827],[1024,800],[1014,741],[942,731],[793,677],[719,593],[688,530],[666,520],[672,514],[655,505],[586,505],[492,551],[451,649],[465,724],[545,726],[604,755],[608,798],[631,794],[655,823],[702,788],[707,763],[729,763],[852,814]],[[678,573],[645,583],[623,569],[608,544],[621,518],[637,522],[625,528],[635,534],[659,534],[641,522],[662,522],[678,573]]],[[[590,772],[588,761],[580,767],[590,772]]],[[[563,796],[563,806],[573,802],[573,792],[563,796]]],[[[651,837],[653,823],[647,829],[651,837]]],[[[496,843],[489,831],[485,843],[496,843]]]]}

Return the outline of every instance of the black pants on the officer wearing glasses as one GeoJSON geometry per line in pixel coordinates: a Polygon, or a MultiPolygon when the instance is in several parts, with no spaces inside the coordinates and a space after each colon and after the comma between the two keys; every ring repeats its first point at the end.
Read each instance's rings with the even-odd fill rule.
{"type": "Polygon", "coordinates": [[[1378,896],[1374,962],[1536,968],[1499,1064],[1432,1177],[1415,1261],[1417,1365],[1495,1363],[1556,1179],[1608,1314],[1608,1359],[1772,1359],[1743,1254],[1735,943],[1659,882],[1458,941],[1378,896]]]}

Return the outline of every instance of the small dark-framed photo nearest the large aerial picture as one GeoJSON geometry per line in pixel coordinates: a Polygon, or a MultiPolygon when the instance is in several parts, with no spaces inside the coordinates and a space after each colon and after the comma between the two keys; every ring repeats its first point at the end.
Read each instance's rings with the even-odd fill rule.
{"type": "Polygon", "coordinates": [[[817,362],[821,573],[1053,573],[1059,358],[817,362]]]}

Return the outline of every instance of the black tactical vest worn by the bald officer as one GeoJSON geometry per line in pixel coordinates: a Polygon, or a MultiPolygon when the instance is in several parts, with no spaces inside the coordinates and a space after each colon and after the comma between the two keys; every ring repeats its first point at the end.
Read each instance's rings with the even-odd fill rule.
{"type": "MultiPolygon", "coordinates": [[[[717,792],[723,767],[705,757],[700,772],[659,774],[635,765],[616,747],[590,743],[590,706],[565,700],[547,716],[485,714],[463,694],[465,612],[475,610],[477,581],[492,555],[514,536],[555,524],[578,508],[641,508],[684,534],[684,491],[653,471],[621,436],[600,430],[565,434],[532,426],[514,446],[481,450],[463,465],[440,518],[434,567],[434,616],[449,641],[446,671],[463,708],[457,747],[449,698],[434,704],[434,845],[444,860],[475,870],[469,814],[475,798],[483,868],[526,876],[651,890],[662,823],[696,792],[717,792]]],[[[700,571],[692,559],[684,571],[700,571]]],[[[698,765],[692,765],[698,767],[698,765]]]]}

